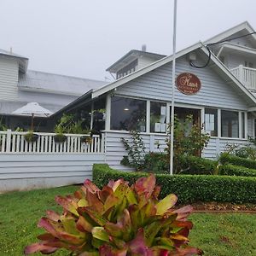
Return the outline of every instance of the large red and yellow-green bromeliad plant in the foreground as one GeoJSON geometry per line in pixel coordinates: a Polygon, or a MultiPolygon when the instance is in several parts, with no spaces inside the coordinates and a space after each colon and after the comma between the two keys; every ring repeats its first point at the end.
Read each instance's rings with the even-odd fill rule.
{"type": "Polygon", "coordinates": [[[48,211],[41,218],[38,227],[47,233],[25,254],[66,248],[79,256],[201,255],[200,249],[188,247],[192,207],[173,210],[177,196],[159,201],[159,193],[154,175],[131,187],[122,179],[110,181],[102,190],[86,180],[74,195],[55,198],[62,214],[48,211]]]}

